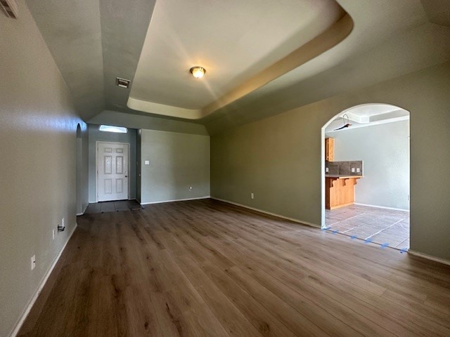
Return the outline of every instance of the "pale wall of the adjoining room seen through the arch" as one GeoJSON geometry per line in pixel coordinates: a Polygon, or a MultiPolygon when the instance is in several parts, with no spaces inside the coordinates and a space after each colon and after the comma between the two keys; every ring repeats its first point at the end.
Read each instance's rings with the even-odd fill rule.
{"type": "Polygon", "coordinates": [[[335,139],[335,161],[363,160],[355,202],[409,210],[409,121],[347,128],[335,139]]]}

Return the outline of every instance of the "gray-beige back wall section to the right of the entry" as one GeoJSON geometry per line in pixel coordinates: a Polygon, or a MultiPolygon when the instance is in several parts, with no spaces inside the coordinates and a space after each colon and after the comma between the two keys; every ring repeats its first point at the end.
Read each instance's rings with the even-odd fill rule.
{"type": "Polygon", "coordinates": [[[210,136],[141,130],[141,204],[209,195],[210,136]]]}

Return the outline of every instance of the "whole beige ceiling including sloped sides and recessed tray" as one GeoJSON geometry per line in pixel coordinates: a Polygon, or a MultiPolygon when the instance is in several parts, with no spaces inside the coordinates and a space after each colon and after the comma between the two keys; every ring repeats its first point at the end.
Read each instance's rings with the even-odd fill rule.
{"type": "Polygon", "coordinates": [[[231,2],[26,0],[86,121],[200,118],[218,133],[450,59],[450,0],[231,2]],[[189,76],[195,64],[207,67],[205,81],[189,76]],[[115,77],[136,88],[118,88],[115,77]],[[173,105],[188,109],[171,114],[173,105]]]}

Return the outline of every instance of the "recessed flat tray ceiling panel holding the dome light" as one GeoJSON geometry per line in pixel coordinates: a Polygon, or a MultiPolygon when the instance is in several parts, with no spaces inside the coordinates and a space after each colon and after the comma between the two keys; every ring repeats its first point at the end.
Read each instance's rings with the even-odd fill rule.
{"type": "Polygon", "coordinates": [[[345,14],[334,0],[158,1],[131,97],[200,109],[285,58],[345,14]],[[257,4],[257,6],[255,6],[257,4]],[[194,79],[189,69],[207,73],[194,79]]]}

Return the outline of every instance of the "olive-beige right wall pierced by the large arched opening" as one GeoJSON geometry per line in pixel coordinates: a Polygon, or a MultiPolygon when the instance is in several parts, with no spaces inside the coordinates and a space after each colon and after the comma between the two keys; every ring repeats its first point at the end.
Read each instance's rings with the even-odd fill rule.
{"type": "Polygon", "coordinates": [[[446,62],[216,134],[212,197],[320,227],[322,126],[356,105],[397,105],[411,112],[411,249],[450,259],[449,92],[446,62]]]}

